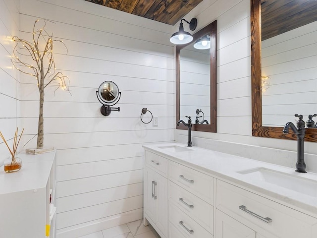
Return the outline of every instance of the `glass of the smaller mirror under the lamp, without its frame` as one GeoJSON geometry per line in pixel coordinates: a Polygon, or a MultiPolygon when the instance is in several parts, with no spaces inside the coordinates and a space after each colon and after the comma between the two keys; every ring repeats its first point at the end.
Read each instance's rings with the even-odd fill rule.
{"type": "MultiPolygon", "coordinates": [[[[208,37],[210,39],[210,35],[208,37]]],[[[180,119],[190,116],[195,123],[210,121],[210,40],[204,44],[207,49],[196,49],[194,45],[202,42],[201,39],[179,52],[180,119]]]]}

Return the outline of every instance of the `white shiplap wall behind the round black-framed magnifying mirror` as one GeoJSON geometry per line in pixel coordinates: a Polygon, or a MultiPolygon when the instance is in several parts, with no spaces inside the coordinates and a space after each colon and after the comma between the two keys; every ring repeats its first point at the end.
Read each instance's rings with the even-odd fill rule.
{"type": "MultiPolygon", "coordinates": [[[[68,49],[65,55],[56,47],[54,60],[69,77],[72,96],[48,87],[44,104],[44,144],[57,149],[57,238],[142,218],[142,144],[170,142],[174,135],[172,27],[84,0],[24,0],[20,17],[21,37],[30,38],[34,21],[46,18],[55,22],[46,29],[68,49]],[[108,117],[96,97],[106,80],[122,92],[120,112],[108,117]],[[159,118],[158,127],[141,122],[144,107],[159,118]]],[[[29,139],[37,132],[38,92],[32,78],[21,77],[29,139]]]]}

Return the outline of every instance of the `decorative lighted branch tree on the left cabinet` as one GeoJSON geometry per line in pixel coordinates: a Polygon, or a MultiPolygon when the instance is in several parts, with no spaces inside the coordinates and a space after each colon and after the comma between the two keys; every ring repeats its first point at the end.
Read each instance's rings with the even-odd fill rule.
{"type": "Polygon", "coordinates": [[[67,47],[62,41],[53,40],[53,33],[51,35],[48,34],[45,30],[45,27],[46,21],[44,19],[37,19],[34,22],[32,43],[20,39],[17,36],[14,36],[12,38],[12,40],[16,42],[16,46],[13,49],[14,59],[11,60],[14,67],[22,73],[29,74],[35,77],[40,92],[40,112],[37,133],[37,149],[43,149],[44,147],[44,89],[50,84],[55,84],[57,86],[56,90],[59,87],[61,87],[62,89],[70,93],[69,79],[67,76],[63,76],[61,72],[55,72],[56,67],[53,57],[54,42],[61,43],[66,48],[66,50],[67,47]],[[40,20],[43,20],[44,25],[42,28],[37,29],[36,25],[40,20]],[[43,50],[40,50],[41,47],[43,47],[43,50]],[[19,58],[18,55],[22,59],[19,58]]]}

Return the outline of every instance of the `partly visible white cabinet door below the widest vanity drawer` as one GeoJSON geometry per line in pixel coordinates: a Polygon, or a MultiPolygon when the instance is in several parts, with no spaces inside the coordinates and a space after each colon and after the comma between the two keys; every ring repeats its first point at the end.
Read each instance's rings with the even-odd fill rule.
{"type": "Polygon", "coordinates": [[[216,238],[256,238],[256,232],[216,209],[216,238]]]}

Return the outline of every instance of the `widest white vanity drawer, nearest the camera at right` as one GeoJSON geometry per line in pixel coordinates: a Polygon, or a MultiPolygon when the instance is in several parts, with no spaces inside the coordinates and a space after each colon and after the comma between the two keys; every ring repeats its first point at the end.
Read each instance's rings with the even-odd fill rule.
{"type": "Polygon", "coordinates": [[[216,208],[255,231],[267,231],[279,238],[317,237],[316,218],[218,179],[216,190],[216,208]]]}

